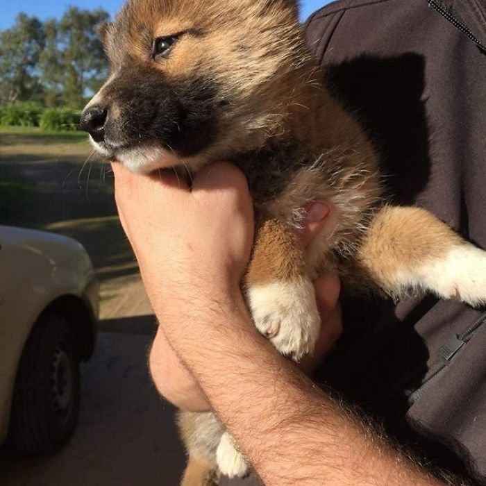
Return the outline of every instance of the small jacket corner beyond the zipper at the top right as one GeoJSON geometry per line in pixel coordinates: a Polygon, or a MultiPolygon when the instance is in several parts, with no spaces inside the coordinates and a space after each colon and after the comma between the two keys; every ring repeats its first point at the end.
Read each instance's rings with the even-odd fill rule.
{"type": "Polygon", "coordinates": [[[427,0],[446,19],[486,52],[486,3],[484,0],[427,0]]]}

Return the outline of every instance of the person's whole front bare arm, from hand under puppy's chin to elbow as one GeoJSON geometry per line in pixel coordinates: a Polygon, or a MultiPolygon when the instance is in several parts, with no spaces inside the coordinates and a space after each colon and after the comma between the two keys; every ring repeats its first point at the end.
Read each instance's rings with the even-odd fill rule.
{"type": "Polygon", "coordinates": [[[121,167],[115,178],[160,326],[266,485],[443,484],[315,387],[251,324],[240,292],[253,239],[241,174],[206,169],[192,192],[170,176],[121,167]]]}

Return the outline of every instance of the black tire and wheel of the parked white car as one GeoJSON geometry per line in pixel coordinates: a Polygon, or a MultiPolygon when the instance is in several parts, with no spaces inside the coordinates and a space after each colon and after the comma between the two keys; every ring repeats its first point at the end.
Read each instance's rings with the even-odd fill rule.
{"type": "Polygon", "coordinates": [[[78,421],[79,353],[61,315],[37,321],[24,346],[12,401],[10,439],[28,454],[51,454],[66,444],[78,421]]]}

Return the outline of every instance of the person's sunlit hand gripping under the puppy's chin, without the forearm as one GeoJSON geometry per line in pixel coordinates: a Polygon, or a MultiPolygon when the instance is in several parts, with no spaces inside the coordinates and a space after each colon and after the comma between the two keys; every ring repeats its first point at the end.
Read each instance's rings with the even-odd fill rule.
{"type": "Polygon", "coordinates": [[[159,319],[240,294],[253,243],[253,205],[240,171],[205,167],[191,190],[170,171],[140,176],[119,164],[113,171],[121,224],[159,319]]]}

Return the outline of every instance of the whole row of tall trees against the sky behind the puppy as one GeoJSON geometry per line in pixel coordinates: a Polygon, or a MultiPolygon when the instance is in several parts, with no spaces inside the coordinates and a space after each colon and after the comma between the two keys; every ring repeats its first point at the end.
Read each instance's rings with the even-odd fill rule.
{"type": "Polygon", "coordinates": [[[36,101],[46,107],[82,108],[107,74],[96,26],[109,14],[68,8],[45,22],[20,13],[0,31],[0,105],[36,101]]]}

